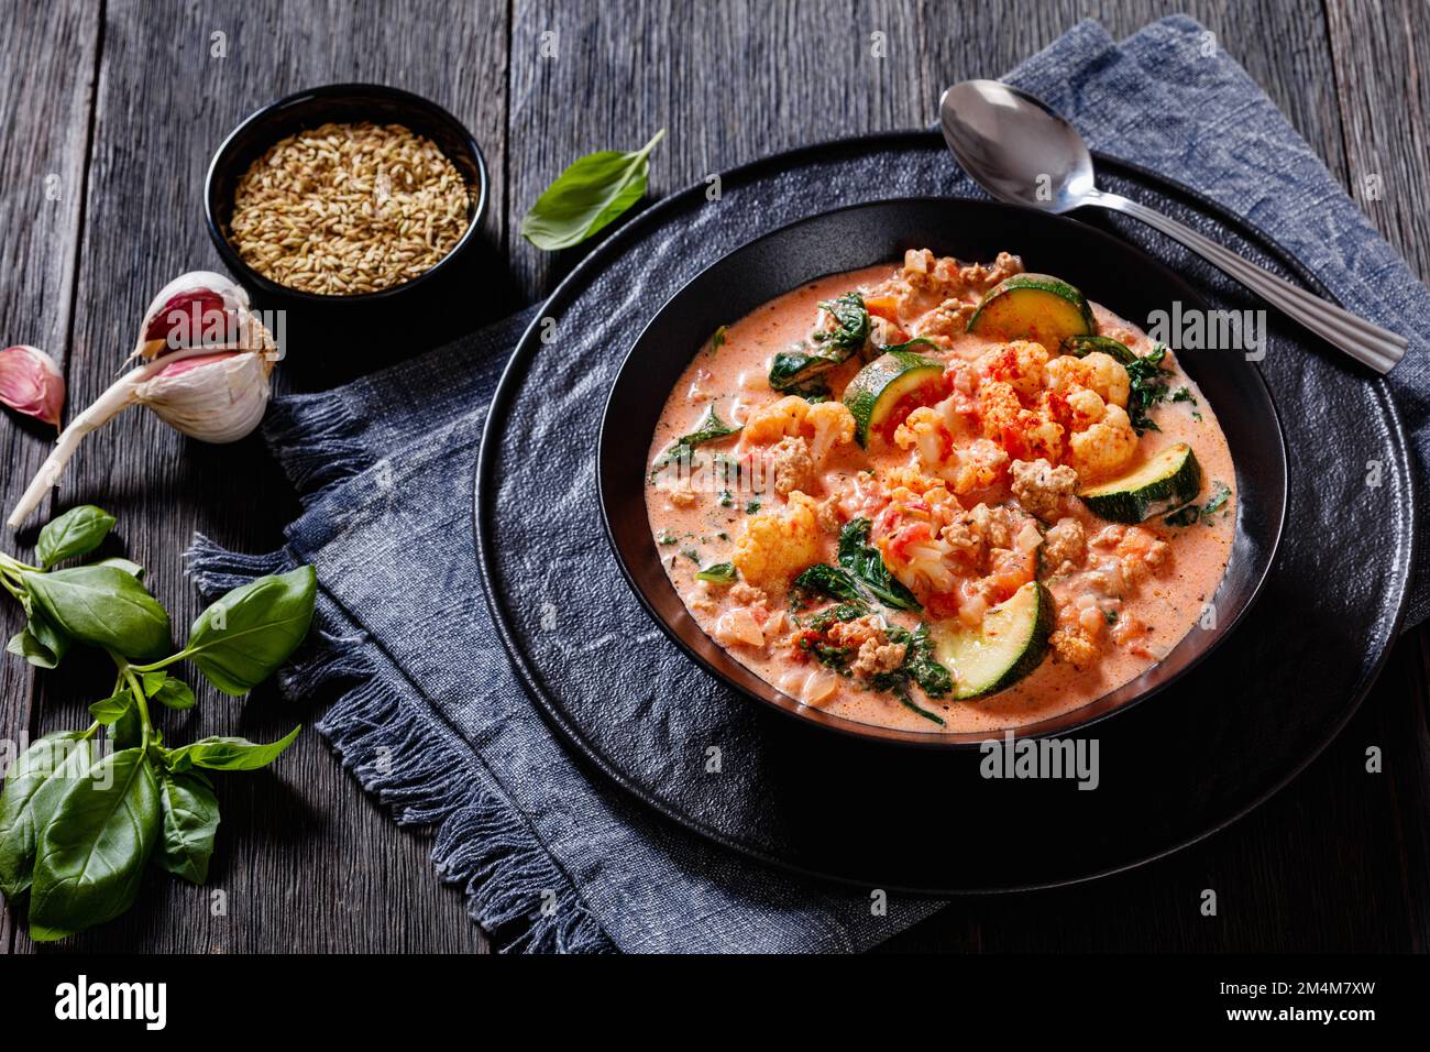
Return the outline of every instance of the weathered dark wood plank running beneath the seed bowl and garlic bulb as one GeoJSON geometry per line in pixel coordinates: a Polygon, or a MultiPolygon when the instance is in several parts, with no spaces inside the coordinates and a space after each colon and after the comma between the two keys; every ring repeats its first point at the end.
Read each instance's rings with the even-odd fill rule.
{"type": "MultiPolygon", "coordinates": [[[[31,46],[54,49],[63,36],[36,33],[31,46]]],[[[386,4],[380,13],[280,0],[242,6],[204,0],[182,7],[112,1],[77,281],[72,406],[87,404],[110,382],[156,289],[186,269],[222,269],[203,229],[202,186],[212,150],[239,119],[305,86],[362,79],[395,83],[456,113],[500,172],[505,56],[500,0],[459,7],[408,0],[386,4]]],[[[77,90],[69,86],[87,77],[83,63],[73,70],[64,64],[56,62],[57,89],[51,90],[77,90]]],[[[489,236],[499,240],[499,183],[495,192],[489,236]]],[[[23,228],[21,222],[9,225],[23,228]]],[[[21,306],[33,312],[39,302],[40,292],[31,286],[21,306]]],[[[296,358],[305,349],[289,351],[296,358]]],[[[127,552],[149,567],[149,583],[176,625],[187,625],[199,600],[179,555],[193,532],[247,551],[277,547],[280,527],[295,514],[287,492],[256,438],[237,447],[202,447],[154,417],[132,411],[86,444],[59,500],[66,507],[92,500],[117,514],[127,552]]],[[[40,677],[34,717],[40,730],[83,719],[84,704],[104,688],[94,678],[99,663],[72,664],[84,668],[40,677]]],[[[240,710],[203,690],[193,719],[172,720],[169,727],[176,739],[236,731],[269,740],[295,723],[310,724],[319,713],[312,704],[286,706],[272,691],[257,693],[240,710]]],[[[124,919],[66,948],[485,946],[460,896],[439,885],[425,839],[398,830],[312,730],[275,773],[233,776],[217,789],[225,822],[209,887],[152,880],[124,919]],[[226,916],[210,913],[213,890],[226,893],[226,916]]],[[[17,949],[30,949],[23,935],[17,949]]]]}

